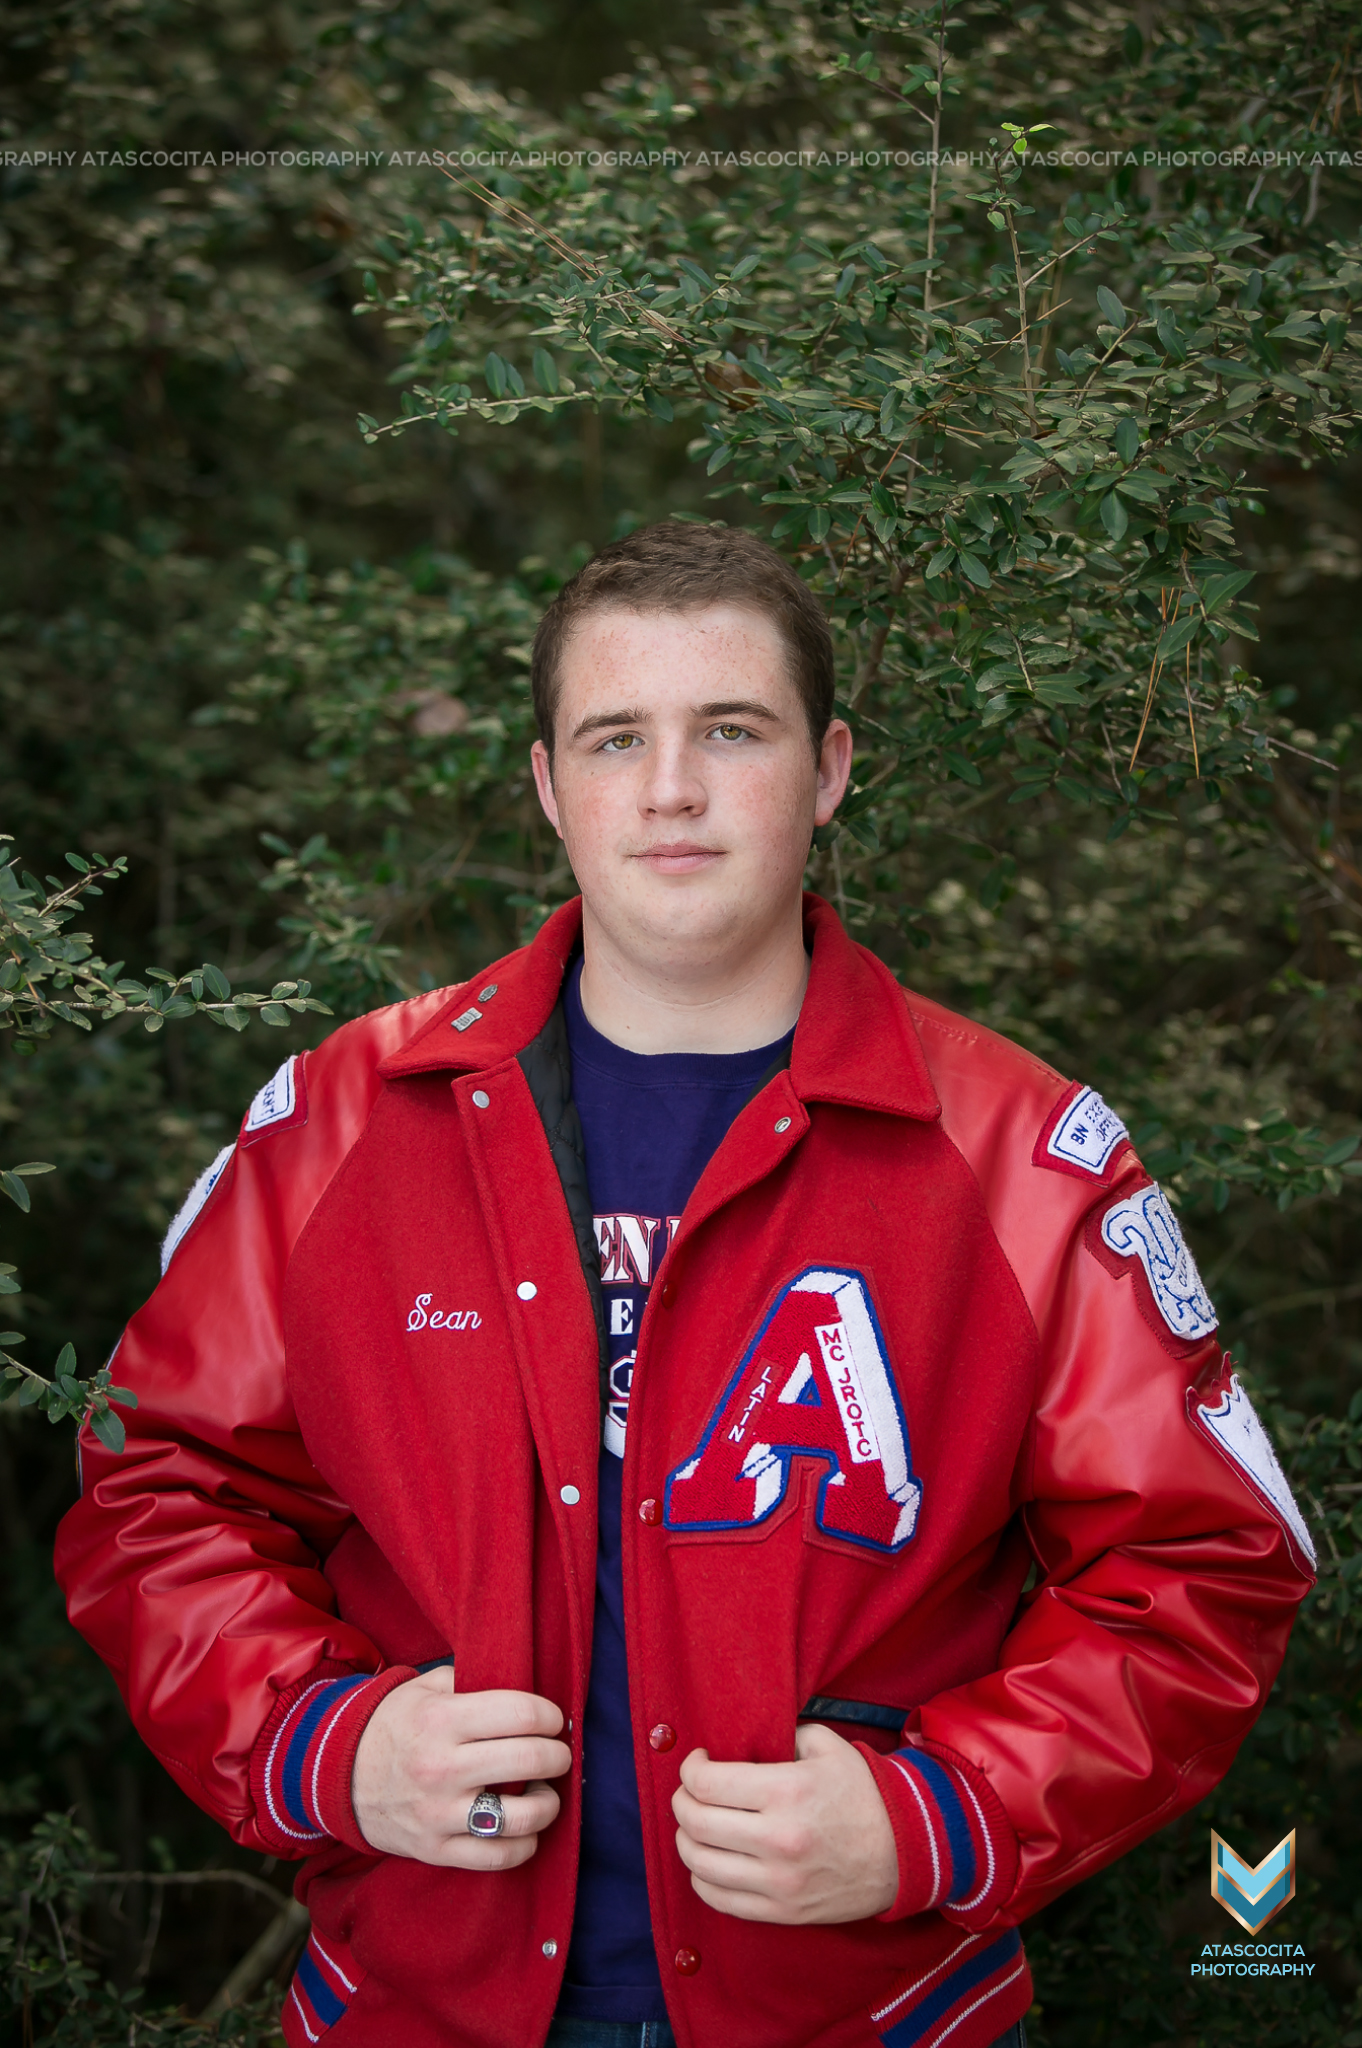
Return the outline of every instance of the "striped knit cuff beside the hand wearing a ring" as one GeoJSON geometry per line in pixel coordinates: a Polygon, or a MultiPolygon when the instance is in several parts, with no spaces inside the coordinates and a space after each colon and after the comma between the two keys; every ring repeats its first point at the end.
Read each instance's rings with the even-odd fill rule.
{"type": "Polygon", "coordinates": [[[369,1849],[350,1798],[354,1751],[373,1710],[410,1677],[412,1665],[317,1665],[281,1694],[250,1761],[256,1825],[276,1855],[307,1855],[324,1841],[369,1849]]]}

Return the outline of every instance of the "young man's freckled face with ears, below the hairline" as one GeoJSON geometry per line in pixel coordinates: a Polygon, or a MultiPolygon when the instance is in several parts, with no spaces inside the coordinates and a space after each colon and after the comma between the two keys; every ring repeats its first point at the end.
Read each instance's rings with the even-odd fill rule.
{"type": "Polygon", "coordinates": [[[555,760],[535,778],[586,899],[627,950],[729,950],[799,903],[850,731],[815,760],[778,629],[760,612],[590,612],[561,666],[555,760]]]}

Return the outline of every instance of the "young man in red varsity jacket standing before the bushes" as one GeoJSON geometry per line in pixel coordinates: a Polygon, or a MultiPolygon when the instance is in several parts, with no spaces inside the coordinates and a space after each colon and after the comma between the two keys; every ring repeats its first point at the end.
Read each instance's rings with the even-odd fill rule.
{"type": "Polygon", "coordinates": [[[582,897],[289,1061],[176,1219],[57,1569],[305,1855],[307,2048],[989,2048],[1202,1798],[1309,1534],[1092,1090],[801,895],[850,733],[756,539],[535,643],[582,897]]]}

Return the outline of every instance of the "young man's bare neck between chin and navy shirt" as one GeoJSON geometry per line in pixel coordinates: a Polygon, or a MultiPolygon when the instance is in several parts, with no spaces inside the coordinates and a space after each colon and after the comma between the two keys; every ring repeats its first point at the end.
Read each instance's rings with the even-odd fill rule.
{"type": "Polygon", "coordinates": [[[756,944],[641,956],[582,915],[582,1008],[631,1053],[750,1053],[793,1030],[809,985],[799,901],[756,944]]]}

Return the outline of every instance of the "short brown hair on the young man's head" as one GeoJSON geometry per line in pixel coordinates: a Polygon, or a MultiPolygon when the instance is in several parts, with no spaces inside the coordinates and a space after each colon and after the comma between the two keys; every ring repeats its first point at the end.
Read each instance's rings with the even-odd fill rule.
{"type": "Polygon", "coordinates": [[[807,584],[741,526],[690,526],[664,518],[610,541],[563,584],[539,621],[530,659],[530,692],[539,737],[553,758],[563,649],[588,612],[619,606],[629,612],[690,612],[703,604],[746,604],[780,631],[791,682],[799,690],[813,748],[823,743],[834,705],[834,659],[827,614],[807,584]]]}

